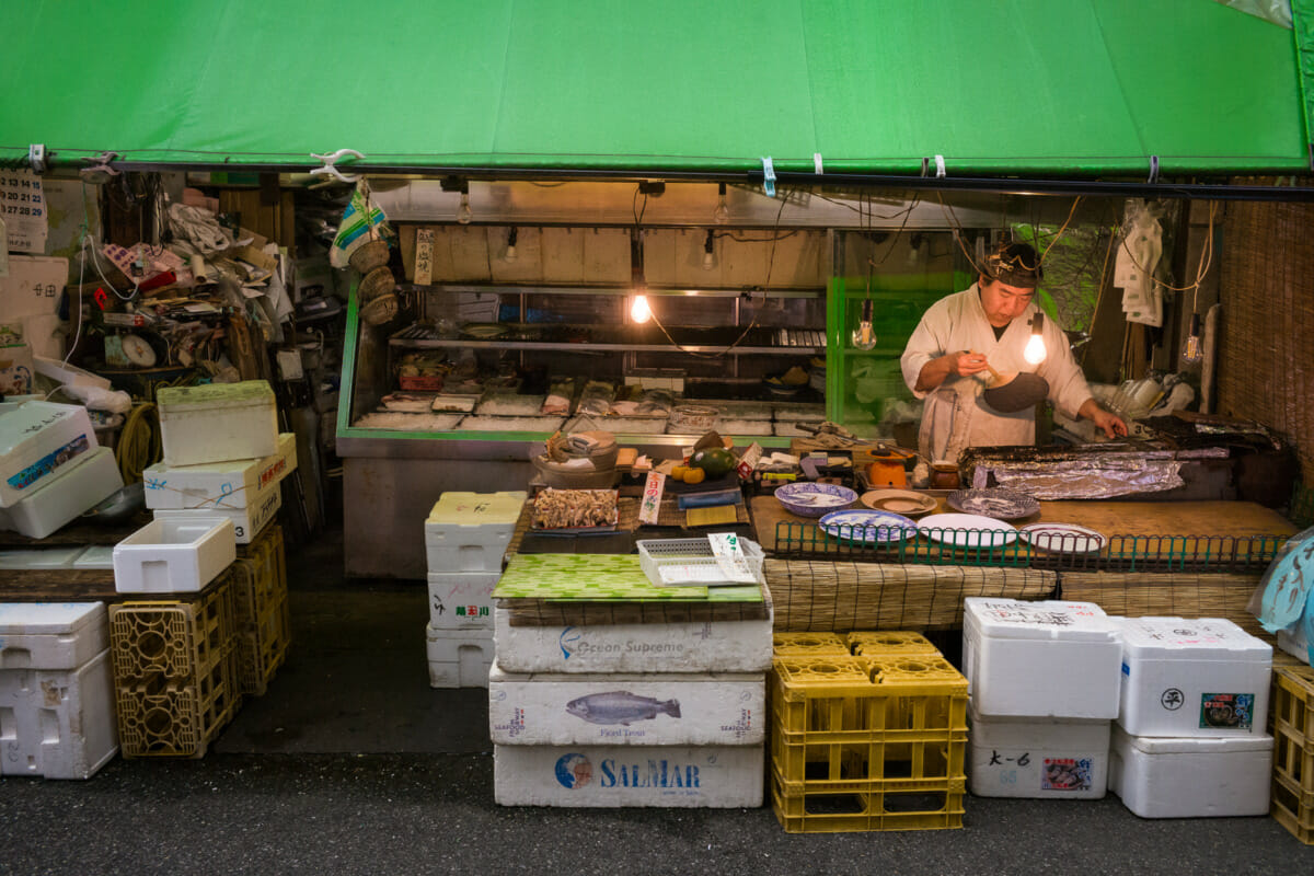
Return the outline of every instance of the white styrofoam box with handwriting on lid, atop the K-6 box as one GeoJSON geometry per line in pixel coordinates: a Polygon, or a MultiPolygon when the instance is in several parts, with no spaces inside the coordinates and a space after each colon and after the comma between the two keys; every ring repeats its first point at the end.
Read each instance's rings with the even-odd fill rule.
{"type": "Polygon", "coordinates": [[[1122,644],[1095,603],[963,600],[963,675],[987,717],[1116,718],[1122,644]]]}

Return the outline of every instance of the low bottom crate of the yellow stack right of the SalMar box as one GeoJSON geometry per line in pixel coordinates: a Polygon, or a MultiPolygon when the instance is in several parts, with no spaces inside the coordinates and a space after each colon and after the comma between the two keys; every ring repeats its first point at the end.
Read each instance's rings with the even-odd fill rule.
{"type": "Polygon", "coordinates": [[[966,780],[887,781],[862,792],[786,793],[771,781],[771,809],[791,834],[943,830],[963,826],[966,780]]]}

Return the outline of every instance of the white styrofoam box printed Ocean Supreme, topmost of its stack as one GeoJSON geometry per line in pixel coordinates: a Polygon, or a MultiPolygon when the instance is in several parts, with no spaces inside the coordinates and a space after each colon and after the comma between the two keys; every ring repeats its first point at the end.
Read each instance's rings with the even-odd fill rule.
{"type": "Polygon", "coordinates": [[[498,665],[507,672],[765,672],[771,619],[590,626],[512,626],[493,609],[498,665]]]}

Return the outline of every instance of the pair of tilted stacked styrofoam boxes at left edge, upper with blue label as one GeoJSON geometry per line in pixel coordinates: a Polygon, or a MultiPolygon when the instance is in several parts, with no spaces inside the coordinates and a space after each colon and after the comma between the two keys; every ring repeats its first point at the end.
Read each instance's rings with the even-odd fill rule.
{"type": "Polygon", "coordinates": [[[25,402],[0,414],[0,529],[45,538],[121,486],[87,408],[25,402]]]}

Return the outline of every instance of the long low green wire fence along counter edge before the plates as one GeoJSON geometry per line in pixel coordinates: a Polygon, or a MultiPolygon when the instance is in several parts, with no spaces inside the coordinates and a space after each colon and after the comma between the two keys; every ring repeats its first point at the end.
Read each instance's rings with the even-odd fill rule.
{"type": "MultiPolygon", "coordinates": [[[[774,556],[1055,571],[1254,571],[1265,569],[1289,536],[1110,536],[1099,550],[1038,550],[996,529],[848,527],[833,537],[811,524],[775,524],[774,556]]],[[[1053,549],[1053,548],[1058,549],[1053,549]]]]}

